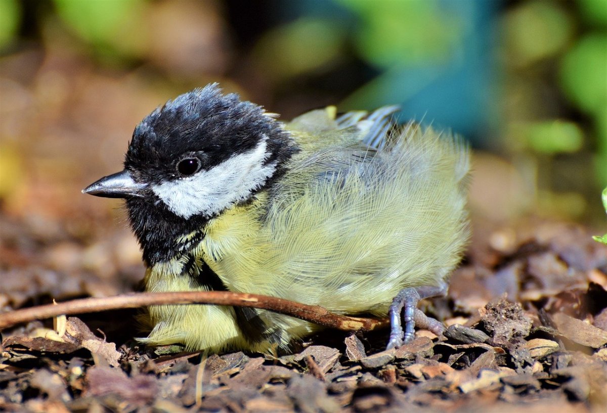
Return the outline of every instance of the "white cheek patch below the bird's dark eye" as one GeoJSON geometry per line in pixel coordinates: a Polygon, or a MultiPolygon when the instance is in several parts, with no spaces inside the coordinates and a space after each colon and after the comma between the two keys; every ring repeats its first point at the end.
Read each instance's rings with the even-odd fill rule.
{"type": "Polygon", "coordinates": [[[212,215],[245,199],[276,170],[276,163],[263,165],[268,156],[264,138],[245,153],[231,156],[210,170],[177,181],[152,186],[152,190],[180,217],[188,219],[203,213],[212,215]]]}

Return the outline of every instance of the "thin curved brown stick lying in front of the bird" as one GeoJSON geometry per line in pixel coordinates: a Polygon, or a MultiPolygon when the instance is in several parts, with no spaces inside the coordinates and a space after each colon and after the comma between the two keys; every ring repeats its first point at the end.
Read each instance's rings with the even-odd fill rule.
{"type": "Polygon", "coordinates": [[[344,331],[371,331],[388,326],[388,320],[347,317],[329,312],[324,307],[309,306],[266,295],[229,291],[145,292],[114,297],[82,298],[58,304],[29,307],[0,314],[0,329],[26,321],[83,314],[121,308],[137,308],[158,304],[216,304],[255,307],[291,315],[311,323],[344,331]]]}

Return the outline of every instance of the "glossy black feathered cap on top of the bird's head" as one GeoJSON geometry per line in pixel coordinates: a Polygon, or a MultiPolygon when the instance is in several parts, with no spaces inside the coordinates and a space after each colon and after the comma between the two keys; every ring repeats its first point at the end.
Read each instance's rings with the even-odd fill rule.
{"type": "Polygon", "coordinates": [[[223,95],[213,83],[184,93],[146,116],[135,127],[124,166],[136,180],[151,183],[171,176],[183,153],[204,152],[202,168],[208,170],[253,149],[264,137],[268,139],[266,163],[281,164],[296,150],[288,133],[262,107],[240,101],[236,93],[223,95]]]}

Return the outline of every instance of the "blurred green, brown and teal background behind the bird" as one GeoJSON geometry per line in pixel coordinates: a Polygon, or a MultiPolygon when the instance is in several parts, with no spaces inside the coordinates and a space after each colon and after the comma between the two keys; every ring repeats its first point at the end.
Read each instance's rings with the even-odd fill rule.
{"type": "Polygon", "coordinates": [[[605,221],[605,0],[0,0],[0,213],[119,216],[80,189],[212,81],[282,119],[401,104],[473,144],[477,217],[605,221]]]}

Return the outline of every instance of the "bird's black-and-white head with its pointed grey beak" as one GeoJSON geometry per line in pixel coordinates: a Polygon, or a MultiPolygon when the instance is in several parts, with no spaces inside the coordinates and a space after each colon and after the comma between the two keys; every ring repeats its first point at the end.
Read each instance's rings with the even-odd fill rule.
{"type": "Polygon", "coordinates": [[[209,84],[146,116],[135,127],[124,170],[83,192],[125,198],[145,252],[146,242],[189,233],[249,200],[296,150],[262,107],[209,84]]]}

